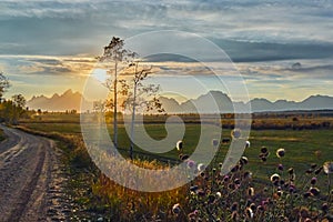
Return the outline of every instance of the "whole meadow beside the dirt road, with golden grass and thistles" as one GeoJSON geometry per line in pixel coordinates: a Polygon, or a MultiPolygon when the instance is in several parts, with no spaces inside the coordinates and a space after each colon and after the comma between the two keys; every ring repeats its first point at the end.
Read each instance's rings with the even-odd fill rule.
{"type": "MultiPolygon", "coordinates": [[[[20,127],[46,135],[69,138],[74,150],[71,155],[75,169],[93,169],[93,179],[88,180],[82,173],[82,176],[75,176],[77,183],[72,184],[73,190],[82,189],[80,185],[91,188],[89,191],[85,189],[84,195],[80,193],[77,196],[78,202],[85,206],[82,215],[74,216],[89,218],[89,212],[94,212],[98,216],[120,221],[330,221],[333,206],[330,174],[323,173],[321,167],[333,160],[332,117],[313,113],[295,115],[255,115],[253,122],[256,127],[251,130],[251,145],[245,149],[244,161],[240,161],[228,179],[216,173],[230,145],[226,143],[221,144],[215,164],[200,172],[191,184],[163,193],[124,189],[91,168],[93,163],[87,161],[89,157],[80,138],[79,114],[42,114],[21,120],[20,127]],[[281,125],[284,125],[283,130],[281,125]],[[279,149],[284,150],[283,157],[275,154],[279,149]],[[79,158],[75,157],[78,153],[79,158]],[[82,162],[84,164],[80,164],[82,162]],[[274,173],[279,174],[276,181],[271,178],[274,173]],[[87,180],[80,182],[82,178],[87,180]],[[295,191],[291,191],[291,188],[295,191]],[[319,189],[320,194],[312,188],[319,189]],[[255,190],[255,194],[251,193],[251,189],[253,192],[255,190]],[[307,195],[305,193],[310,193],[309,196],[304,198],[307,195]]],[[[193,115],[183,119],[186,122],[183,153],[191,154],[198,142],[200,125],[193,115]]],[[[152,138],[165,137],[164,120],[165,117],[147,118],[145,129],[152,138]]],[[[231,138],[232,117],[225,117],[223,121],[225,129],[222,139],[231,138]]],[[[109,132],[112,134],[111,124],[109,132]]],[[[129,145],[129,138],[120,124],[119,147],[124,157],[128,155],[129,145]]],[[[137,147],[134,151],[135,164],[144,168],[168,169],[164,160],[174,164],[180,162],[175,148],[160,155],[147,153],[137,147]]],[[[80,171],[73,172],[78,174],[80,171]]]]}

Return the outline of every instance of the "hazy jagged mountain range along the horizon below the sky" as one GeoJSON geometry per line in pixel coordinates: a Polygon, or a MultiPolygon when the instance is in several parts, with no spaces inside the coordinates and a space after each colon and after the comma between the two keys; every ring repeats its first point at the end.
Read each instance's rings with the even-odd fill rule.
{"type": "MultiPolygon", "coordinates": [[[[92,110],[92,102],[87,101],[80,92],[67,90],[63,94],[54,93],[51,98],[44,95],[32,97],[28,102],[30,109],[41,109],[48,111],[80,111],[81,100],[87,104],[82,111],[92,110]]],[[[221,91],[210,91],[196,99],[190,99],[179,103],[173,98],[160,97],[160,101],[167,113],[215,113],[233,112],[234,108],[239,111],[249,110],[251,104],[252,112],[263,111],[290,111],[290,110],[326,110],[333,109],[333,97],[311,95],[303,101],[278,100],[271,102],[266,99],[253,99],[248,103],[232,102],[230,97],[221,91]]]]}

